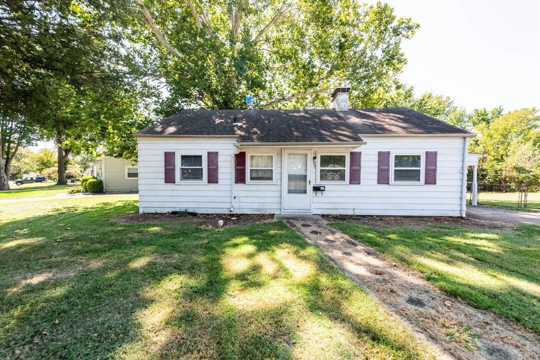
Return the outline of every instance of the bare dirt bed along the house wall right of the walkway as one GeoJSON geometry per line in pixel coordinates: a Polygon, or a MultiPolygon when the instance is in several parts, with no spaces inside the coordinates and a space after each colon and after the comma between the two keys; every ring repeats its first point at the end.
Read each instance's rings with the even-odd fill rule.
{"type": "Polygon", "coordinates": [[[321,215],[327,222],[348,222],[379,229],[407,227],[421,229],[427,226],[459,226],[469,230],[489,230],[492,232],[512,232],[515,226],[500,222],[470,220],[451,216],[353,216],[353,215],[321,215]]]}

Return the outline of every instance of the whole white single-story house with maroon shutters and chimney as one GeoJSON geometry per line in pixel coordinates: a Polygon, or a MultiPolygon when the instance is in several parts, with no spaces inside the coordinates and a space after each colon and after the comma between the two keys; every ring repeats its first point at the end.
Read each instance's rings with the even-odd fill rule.
{"type": "Polygon", "coordinates": [[[182,110],[134,134],[139,212],[465,216],[468,131],[405,107],[182,110]]]}

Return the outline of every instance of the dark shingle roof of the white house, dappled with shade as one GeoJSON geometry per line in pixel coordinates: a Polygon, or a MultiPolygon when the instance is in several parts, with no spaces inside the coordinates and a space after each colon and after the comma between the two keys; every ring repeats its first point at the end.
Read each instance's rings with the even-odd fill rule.
{"type": "Polygon", "coordinates": [[[362,141],[359,134],[470,133],[407,107],[392,107],[349,111],[182,110],[136,136],[238,135],[238,142],[348,142],[362,141]]]}

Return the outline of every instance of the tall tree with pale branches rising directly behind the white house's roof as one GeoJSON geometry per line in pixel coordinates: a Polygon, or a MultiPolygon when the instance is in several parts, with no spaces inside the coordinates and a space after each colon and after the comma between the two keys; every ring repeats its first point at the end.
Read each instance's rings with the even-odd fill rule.
{"type": "Polygon", "coordinates": [[[170,96],[158,109],[327,107],[353,87],[372,105],[406,64],[401,41],[418,25],[387,4],[356,0],[133,0],[126,52],[170,96]],[[136,9],[135,9],[136,10],[136,9]]]}

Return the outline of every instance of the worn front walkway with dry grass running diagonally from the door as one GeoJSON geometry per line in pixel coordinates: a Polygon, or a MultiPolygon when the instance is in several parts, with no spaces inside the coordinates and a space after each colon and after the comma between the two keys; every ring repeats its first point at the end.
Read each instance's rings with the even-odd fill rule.
{"type": "Polygon", "coordinates": [[[396,321],[402,322],[422,341],[433,345],[439,352],[437,358],[540,358],[540,337],[523,327],[448,296],[419,272],[328,228],[324,222],[289,220],[286,223],[318,247],[351,281],[368,291],[396,321]],[[447,336],[449,331],[457,333],[465,328],[471,328],[471,333],[482,336],[478,344],[485,350],[471,353],[463,342],[447,336]]]}

